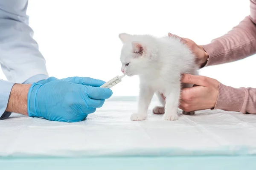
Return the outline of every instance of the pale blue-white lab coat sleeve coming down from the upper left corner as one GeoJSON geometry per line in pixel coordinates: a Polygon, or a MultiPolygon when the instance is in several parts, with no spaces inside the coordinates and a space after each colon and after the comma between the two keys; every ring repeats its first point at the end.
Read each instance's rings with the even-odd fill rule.
{"type": "Polygon", "coordinates": [[[27,5],[28,0],[0,1],[0,64],[6,78],[15,83],[38,74],[48,76],[45,59],[28,25],[27,5]]]}

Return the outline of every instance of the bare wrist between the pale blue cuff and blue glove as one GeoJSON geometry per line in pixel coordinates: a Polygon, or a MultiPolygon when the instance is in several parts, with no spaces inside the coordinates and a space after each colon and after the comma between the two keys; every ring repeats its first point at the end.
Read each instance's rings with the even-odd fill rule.
{"type": "Polygon", "coordinates": [[[6,111],[28,115],[27,94],[31,85],[15,84],[9,96],[6,111]]]}

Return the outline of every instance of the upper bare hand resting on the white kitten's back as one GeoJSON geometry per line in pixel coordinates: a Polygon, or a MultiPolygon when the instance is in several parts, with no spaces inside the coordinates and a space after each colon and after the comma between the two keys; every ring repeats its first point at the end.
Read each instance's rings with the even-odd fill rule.
{"type": "Polygon", "coordinates": [[[207,62],[207,59],[209,58],[209,55],[204,50],[202,45],[197,45],[194,41],[192,41],[188,38],[181,38],[181,37],[179,37],[175,34],[171,34],[171,33],[168,34],[168,37],[179,38],[181,40],[181,42],[186,44],[189,47],[189,49],[192,51],[192,53],[195,54],[195,56],[197,57],[197,63],[199,65],[199,67],[204,67],[204,65],[207,62]]]}

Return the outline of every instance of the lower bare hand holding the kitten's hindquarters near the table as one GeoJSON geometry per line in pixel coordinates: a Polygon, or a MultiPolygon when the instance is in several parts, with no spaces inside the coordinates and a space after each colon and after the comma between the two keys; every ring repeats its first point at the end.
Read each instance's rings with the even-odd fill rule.
{"type": "Polygon", "coordinates": [[[184,88],[181,91],[180,109],[190,112],[215,107],[219,88],[219,82],[216,79],[184,74],[181,82],[194,84],[194,87],[184,88]]]}

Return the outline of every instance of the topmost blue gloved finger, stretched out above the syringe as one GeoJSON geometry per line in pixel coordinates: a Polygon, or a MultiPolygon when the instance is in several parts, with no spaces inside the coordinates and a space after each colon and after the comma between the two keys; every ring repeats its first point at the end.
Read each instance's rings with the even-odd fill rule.
{"type": "Polygon", "coordinates": [[[68,78],[62,79],[62,80],[66,80],[68,82],[72,82],[72,83],[79,84],[79,85],[90,85],[93,87],[99,87],[105,83],[102,80],[93,79],[90,77],[68,77],[68,78]]]}

